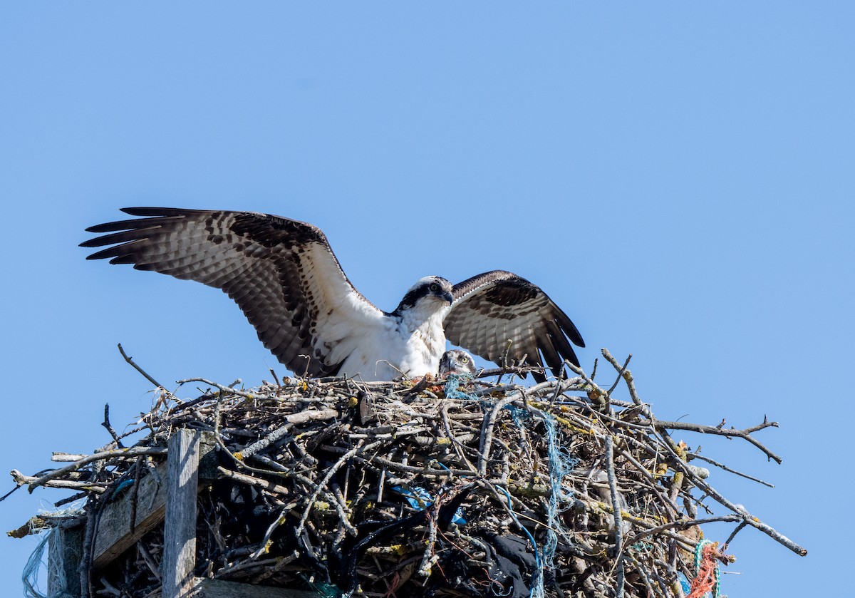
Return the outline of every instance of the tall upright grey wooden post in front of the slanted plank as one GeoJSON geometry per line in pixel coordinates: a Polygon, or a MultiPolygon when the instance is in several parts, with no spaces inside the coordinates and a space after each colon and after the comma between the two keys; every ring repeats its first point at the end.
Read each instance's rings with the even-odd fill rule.
{"type": "Polygon", "coordinates": [[[200,438],[198,430],[191,429],[180,429],[169,438],[162,598],[186,598],[193,589],[200,438]]]}

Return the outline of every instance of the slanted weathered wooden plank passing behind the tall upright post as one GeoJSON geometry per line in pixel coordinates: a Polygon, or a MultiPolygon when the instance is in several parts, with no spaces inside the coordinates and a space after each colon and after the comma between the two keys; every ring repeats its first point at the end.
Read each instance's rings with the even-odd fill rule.
{"type": "MultiPolygon", "coordinates": [[[[200,480],[208,482],[216,477],[214,436],[203,432],[200,447],[200,480]]],[[[163,464],[144,476],[137,488],[137,516],[131,529],[133,495],[128,490],[124,496],[104,507],[98,519],[98,529],[92,548],[92,568],[100,569],[131,548],[141,537],[163,521],[166,506],[167,465],[163,464]]]]}

